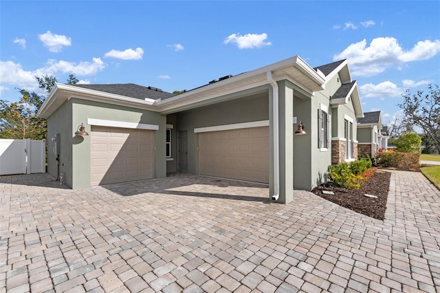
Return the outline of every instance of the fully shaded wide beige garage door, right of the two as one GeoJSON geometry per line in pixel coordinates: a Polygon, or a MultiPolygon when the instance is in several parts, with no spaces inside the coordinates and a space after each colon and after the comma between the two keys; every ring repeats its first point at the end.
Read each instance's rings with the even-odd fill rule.
{"type": "Polygon", "coordinates": [[[269,127],[199,133],[199,173],[269,183],[269,127]]]}

